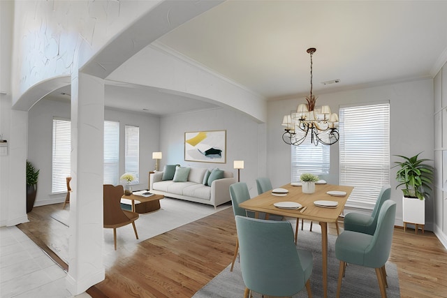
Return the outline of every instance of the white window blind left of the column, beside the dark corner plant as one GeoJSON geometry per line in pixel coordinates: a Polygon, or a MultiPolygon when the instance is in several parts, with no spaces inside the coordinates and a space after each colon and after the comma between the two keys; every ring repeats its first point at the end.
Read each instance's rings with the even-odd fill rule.
{"type": "Polygon", "coordinates": [[[67,191],[66,177],[71,175],[71,121],[53,119],[52,193],[67,191]]]}

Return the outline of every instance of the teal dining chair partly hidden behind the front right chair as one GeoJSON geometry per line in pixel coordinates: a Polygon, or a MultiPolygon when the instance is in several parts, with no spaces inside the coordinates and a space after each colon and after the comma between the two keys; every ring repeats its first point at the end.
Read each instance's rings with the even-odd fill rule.
{"type": "Polygon", "coordinates": [[[383,202],[390,200],[390,196],[391,186],[389,184],[382,186],[371,216],[357,212],[350,212],[349,214],[346,214],[344,216],[344,230],[370,235],[374,234],[377,226],[377,218],[379,218],[379,211],[383,205],[383,202]]]}

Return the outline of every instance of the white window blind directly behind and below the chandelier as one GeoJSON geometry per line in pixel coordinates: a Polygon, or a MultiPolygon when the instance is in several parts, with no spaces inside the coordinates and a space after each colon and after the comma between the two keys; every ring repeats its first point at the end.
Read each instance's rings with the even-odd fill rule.
{"type": "Polygon", "coordinates": [[[300,181],[303,173],[316,175],[329,174],[330,148],[328,145],[319,143],[312,144],[311,138],[307,137],[299,146],[292,147],[292,182],[300,181]]]}

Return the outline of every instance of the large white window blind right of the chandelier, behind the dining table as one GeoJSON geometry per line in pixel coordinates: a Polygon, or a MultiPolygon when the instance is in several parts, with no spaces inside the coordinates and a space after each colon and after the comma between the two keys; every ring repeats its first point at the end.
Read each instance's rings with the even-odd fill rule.
{"type": "Polygon", "coordinates": [[[390,104],[341,107],[339,183],[354,186],[346,207],[374,209],[390,184],[390,104]]]}

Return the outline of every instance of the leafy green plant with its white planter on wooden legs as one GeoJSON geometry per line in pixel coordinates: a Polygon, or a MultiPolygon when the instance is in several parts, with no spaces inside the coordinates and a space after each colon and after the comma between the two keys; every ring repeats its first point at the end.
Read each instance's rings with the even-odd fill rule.
{"type": "Polygon", "coordinates": [[[393,166],[400,168],[396,173],[396,180],[399,183],[396,189],[404,186],[402,188],[404,228],[406,223],[414,223],[416,232],[418,225],[425,225],[425,198],[429,196],[428,191],[432,190],[434,172],[433,167],[425,163],[431,161],[430,159],[418,159],[421,153],[413,157],[396,155],[403,160],[395,161],[395,166],[393,166]]]}

